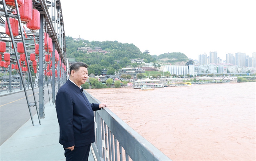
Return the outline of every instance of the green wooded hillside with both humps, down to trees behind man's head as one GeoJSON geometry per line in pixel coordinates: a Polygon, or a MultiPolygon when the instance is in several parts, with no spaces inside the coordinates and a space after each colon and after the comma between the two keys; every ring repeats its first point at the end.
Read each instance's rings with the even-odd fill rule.
{"type": "Polygon", "coordinates": [[[70,36],[66,36],[66,53],[68,58],[75,58],[76,61],[81,61],[89,65],[88,72],[93,74],[100,74],[101,70],[108,69],[107,74],[114,74],[116,70],[119,70],[128,65],[132,67],[139,66],[139,63],[131,64],[130,59],[144,59],[145,63],[154,63],[158,65],[161,62],[164,63],[180,63],[188,61],[188,57],[183,53],[164,53],[159,56],[152,56],[147,52],[141,52],[134,44],[121,43],[117,41],[88,41],[79,40],[76,41],[70,36]],[[102,50],[108,51],[107,53],[92,52],[78,50],[81,47],[90,47],[93,50],[95,47],[101,47],[102,50]]]}

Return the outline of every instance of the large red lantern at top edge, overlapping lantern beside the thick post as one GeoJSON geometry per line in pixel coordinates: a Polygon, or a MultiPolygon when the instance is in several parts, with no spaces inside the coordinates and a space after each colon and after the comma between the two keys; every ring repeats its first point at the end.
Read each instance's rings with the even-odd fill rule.
{"type": "Polygon", "coordinates": [[[32,20],[33,2],[31,0],[24,0],[24,4],[20,6],[20,20],[27,24],[32,20]]]}

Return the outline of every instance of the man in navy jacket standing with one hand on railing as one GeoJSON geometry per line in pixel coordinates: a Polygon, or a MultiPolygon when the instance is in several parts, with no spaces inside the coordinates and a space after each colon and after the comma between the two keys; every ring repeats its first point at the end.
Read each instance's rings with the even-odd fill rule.
{"type": "Polygon", "coordinates": [[[107,104],[90,104],[82,84],[88,79],[87,65],[75,62],[70,65],[69,80],[61,86],[56,96],[56,111],[60,125],[60,144],[66,160],[88,160],[94,137],[93,111],[107,104]]]}

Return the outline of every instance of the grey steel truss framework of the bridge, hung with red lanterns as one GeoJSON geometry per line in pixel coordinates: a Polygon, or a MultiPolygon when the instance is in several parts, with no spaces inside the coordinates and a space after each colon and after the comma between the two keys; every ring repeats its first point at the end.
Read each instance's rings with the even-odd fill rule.
{"type": "MultiPolygon", "coordinates": [[[[20,74],[20,83],[22,84],[24,88],[24,93],[26,96],[27,104],[28,104],[28,109],[30,113],[30,117],[32,120],[32,125],[34,126],[34,121],[31,113],[31,107],[36,107],[36,112],[39,120],[39,124],[41,125],[40,118],[44,118],[44,85],[45,82],[47,84],[48,88],[48,96],[50,100],[50,93],[52,94],[52,103],[55,103],[55,91],[60,88],[61,85],[63,85],[66,80],[67,80],[67,70],[65,71],[63,68],[63,65],[67,65],[66,63],[66,48],[65,48],[65,32],[64,32],[64,23],[63,23],[63,18],[62,18],[62,11],[61,11],[61,5],[60,5],[60,0],[52,0],[52,1],[45,1],[45,0],[32,0],[33,1],[33,8],[37,9],[40,12],[40,29],[39,32],[32,33],[30,30],[23,29],[21,20],[20,20],[20,12],[17,0],[15,1],[15,10],[17,14],[13,14],[12,11],[13,9],[9,8],[5,4],[5,0],[0,1],[0,27],[5,27],[5,20],[6,23],[9,27],[10,31],[10,36],[7,35],[6,33],[0,33],[0,40],[4,42],[9,42],[9,46],[6,45],[6,50],[9,50],[8,53],[11,54],[11,63],[10,66],[8,67],[9,69],[6,68],[6,71],[9,70],[9,75],[11,77],[11,64],[16,63],[18,65],[18,73],[20,74]],[[49,10],[51,11],[51,14],[49,13],[49,10]],[[17,37],[13,36],[12,33],[12,28],[10,24],[9,18],[15,18],[19,22],[19,35],[17,37]],[[49,34],[49,37],[52,38],[52,44],[53,44],[53,51],[52,53],[45,52],[44,51],[44,32],[49,34]],[[26,35],[26,38],[24,36],[26,35]],[[35,42],[35,44],[33,42],[35,42]],[[27,89],[25,86],[25,82],[22,79],[24,76],[24,72],[22,71],[21,64],[19,61],[19,55],[17,51],[17,42],[22,42],[24,51],[25,51],[25,57],[26,57],[26,62],[29,62],[29,57],[30,53],[35,53],[35,45],[36,42],[39,44],[39,56],[36,57],[37,61],[37,75],[36,75],[36,84],[38,82],[38,87],[39,87],[39,107],[36,102],[36,97],[35,97],[35,91],[34,91],[34,83],[32,79],[32,74],[31,74],[31,69],[30,65],[32,63],[28,63],[28,82],[31,84],[31,88],[33,91],[33,101],[29,101],[28,99],[28,94],[27,94],[27,89]],[[57,77],[55,77],[55,50],[58,51],[60,59],[56,62],[57,63],[57,77]],[[48,55],[50,59],[50,55],[52,55],[52,76],[51,73],[49,76],[44,76],[45,73],[44,71],[47,71],[47,66],[50,66],[50,60],[45,61],[45,55],[48,55]],[[49,79],[50,77],[50,79],[49,79]],[[51,84],[52,92],[49,92],[49,87],[48,83],[51,84]],[[57,84],[57,86],[56,86],[57,84]],[[39,109],[39,112],[38,112],[39,109]]],[[[24,27],[24,26],[23,26],[24,27]]],[[[6,43],[7,44],[7,43],[6,43]]],[[[48,39],[47,39],[47,44],[48,39]]],[[[48,46],[47,46],[48,47],[48,46]]],[[[67,68],[68,69],[68,68],[67,68]]],[[[51,69],[50,69],[51,71],[51,69]]],[[[9,79],[9,82],[11,82],[11,78],[9,79]]],[[[36,85],[35,84],[35,85],[36,85]]],[[[11,90],[11,85],[9,86],[10,92],[11,90]]],[[[21,86],[20,86],[21,88],[21,86]]]]}

